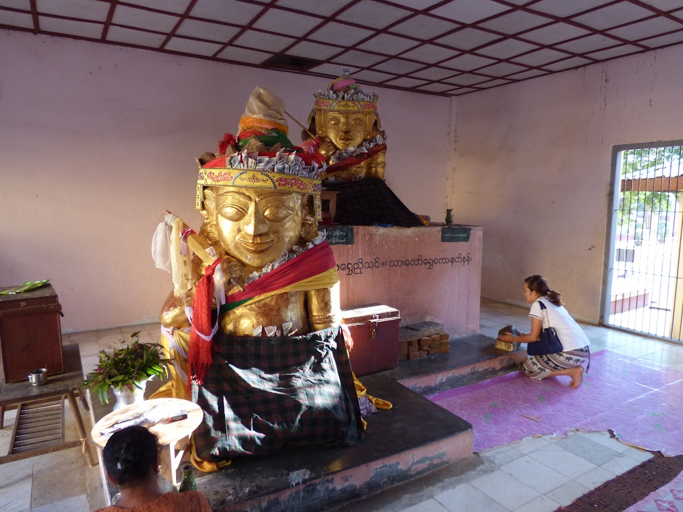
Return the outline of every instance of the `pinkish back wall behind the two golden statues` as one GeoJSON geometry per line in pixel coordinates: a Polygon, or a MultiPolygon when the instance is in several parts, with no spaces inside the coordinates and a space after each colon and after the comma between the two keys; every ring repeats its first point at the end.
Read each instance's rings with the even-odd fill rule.
{"type": "MultiPolygon", "coordinates": [[[[254,86],[305,120],[326,83],[10,31],[0,63],[0,286],[52,279],[65,332],[155,321],[171,280],[151,236],[164,208],[197,225],[194,158],[235,131],[254,86]]],[[[448,100],[375,90],[387,183],[440,219],[448,100]]]]}

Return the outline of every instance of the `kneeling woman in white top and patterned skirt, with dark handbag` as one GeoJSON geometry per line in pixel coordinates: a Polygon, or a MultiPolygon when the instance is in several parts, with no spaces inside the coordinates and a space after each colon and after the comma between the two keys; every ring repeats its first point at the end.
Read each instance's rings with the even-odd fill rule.
{"type": "Polygon", "coordinates": [[[524,280],[524,298],[532,304],[529,311],[531,332],[519,336],[505,333],[500,336],[501,340],[528,344],[537,342],[543,330],[543,303],[547,317],[546,326],[555,329],[563,350],[545,355],[530,355],[522,369],[532,379],[539,380],[569,375],[572,377],[570,388],[578,388],[583,382],[583,364],[590,355],[588,337],[562,306],[560,294],[548,287],[548,282],[543,276],[530,276],[524,280]]]}

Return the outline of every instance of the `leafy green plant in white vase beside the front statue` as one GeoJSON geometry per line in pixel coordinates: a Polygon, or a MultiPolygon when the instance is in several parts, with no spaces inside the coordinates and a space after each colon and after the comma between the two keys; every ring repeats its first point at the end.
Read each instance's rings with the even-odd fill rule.
{"type": "Polygon", "coordinates": [[[114,346],[111,352],[100,350],[100,361],[80,387],[97,394],[100,403],[109,403],[107,390],[116,397],[114,410],[144,400],[147,381],[155,376],[167,377],[163,347],[158,343],[141,343],[140,331],[114,346]]]}

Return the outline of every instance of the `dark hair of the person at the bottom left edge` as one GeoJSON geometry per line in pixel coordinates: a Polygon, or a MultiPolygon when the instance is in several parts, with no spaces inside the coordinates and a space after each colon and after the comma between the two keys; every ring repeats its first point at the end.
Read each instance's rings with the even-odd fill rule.
{"type": "Polygon", "coordinates": [[[105,468],[117,485],[126,486],[147,478],[157,463],[157,436],[145,427],[126,427],[111,434],[102,451],[105,468]]]}

